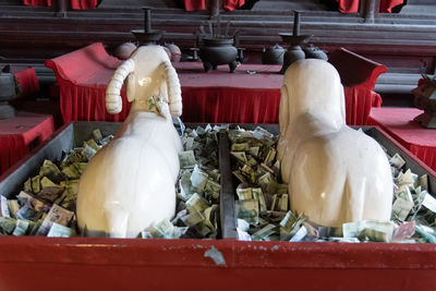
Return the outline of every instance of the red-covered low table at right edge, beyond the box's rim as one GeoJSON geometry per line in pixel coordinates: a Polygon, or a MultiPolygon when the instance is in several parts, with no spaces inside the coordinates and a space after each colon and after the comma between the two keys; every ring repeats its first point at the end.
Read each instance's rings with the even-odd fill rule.
{"type": "Polygon", "coordinates": [[[368,122],[379,125],[436,171],[436,130],[427,130],[413,121],[422,112],[416,108],[373,108],[368,122]]]}

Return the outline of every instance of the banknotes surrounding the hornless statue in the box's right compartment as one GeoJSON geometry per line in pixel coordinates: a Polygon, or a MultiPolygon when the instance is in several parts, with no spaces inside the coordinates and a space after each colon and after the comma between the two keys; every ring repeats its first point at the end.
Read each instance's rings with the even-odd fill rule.
{"type": "MultiPolygon", "coordinates": [[[[257,128],[229,131],[232,173],[238,179],[238,237],[243,241],[436,242],[436,199],[426,174],[404,169],[396,154],[391,165],[393,204],[389,221],[356,221],[342,228],[317,226],[288,209],[288,185],[280,183],[277,136],[257,128]]],[[[388,154],[387,154],[388,155],[388,154]]]]}

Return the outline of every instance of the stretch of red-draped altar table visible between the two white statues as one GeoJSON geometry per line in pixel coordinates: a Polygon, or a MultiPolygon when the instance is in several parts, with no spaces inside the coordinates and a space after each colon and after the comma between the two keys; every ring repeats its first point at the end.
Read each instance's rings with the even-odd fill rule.
{"type": "Polygon", "coordinates": [[[278,123],[280,65],[228,65],[205,73],[201,62],[174,63],[182,86],[184,122],[278,123]]]}

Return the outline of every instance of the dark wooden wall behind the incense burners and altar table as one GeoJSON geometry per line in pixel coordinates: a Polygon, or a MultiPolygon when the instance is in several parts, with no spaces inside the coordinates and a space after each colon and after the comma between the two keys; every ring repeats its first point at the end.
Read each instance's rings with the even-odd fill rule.
{"type": "MultiPolygon", "coordinates": [[[[209,8],[215,0],[209,0],[209,8]]],[[[360,13],[341,14],[328,11],[312,1],[302,12],[301,34],[314,35],[312,44],[327,52],[346,47],[388,66],[377,88],[387,94],[407,94],[420,74],[435,72],[436,3],[427,3],[425,13],[420,3],[403,8],[400,13],[367,12],[362,0],[360,13]],[[407,9],[405,9],[407,8],[407,9]],[[415,8],[415,9],[414,9],[415,8]]],[[[416,3],[417,0],[415,0],[416,3]]],[[[307,5],[307,1],[304,5],[307,5]]],[[[417,1],[419,2],[419,1],[417,1]]],[[[259,62],[262,49],[281,43],[279,33],[292,32],[293,1],[261,0],[252,10],[218,11],[222,22],[239,27],[241,47],[249,62],[259,62]],[[263,9],[256,7],[263,5],[263,9]],[[267,5],[265,5],[267,4],[267,5]],[[268,7],[270,4],[270,9],[268,7]]],[[[296,7],[302,2],[294,1],[296,7]]],[[[56,8],[24,7],[21,1],[0,1],[0,62],[33,64],[41,77],[50,74],[43,63],[95,41],[102,41],[109,51],[124,41],[134,41],[132,29],[143,28],[141,5],[153,7],[153,27],[165,29],[162,41],[179,45],[184,52],[195,46],[195,32],[217,11],[185,12],[179,0],[113,1],[88,11],[59,13],[56,8]]],[[[368,4],[367,4],[368,5],[368,4]]]]}

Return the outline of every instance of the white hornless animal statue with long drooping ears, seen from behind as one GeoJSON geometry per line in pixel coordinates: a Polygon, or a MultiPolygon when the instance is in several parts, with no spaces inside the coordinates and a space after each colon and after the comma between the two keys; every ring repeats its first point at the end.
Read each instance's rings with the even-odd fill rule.
{"type": "Polygon", "coordinates": [[[376,141],[346,125],[343,87],[326,61],[294,62],[280,99],[278,159],[290,207],[326,227],[389,220],[392,178],[376,141]]]}

